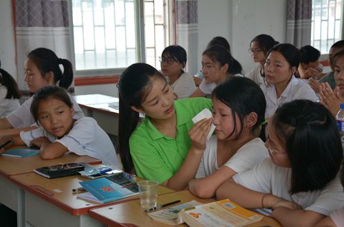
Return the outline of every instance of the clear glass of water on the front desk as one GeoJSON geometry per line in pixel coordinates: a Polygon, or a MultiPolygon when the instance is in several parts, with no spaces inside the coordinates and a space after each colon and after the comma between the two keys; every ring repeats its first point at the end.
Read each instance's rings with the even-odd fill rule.
{"type": "Polygon", "coordinates": [[[141,207],[144,210],[153,208],[156,206],[156,201],[158,198],[158,186],[159,182],[152,180],[144,180],[138,182],[138,191],[140,192],[141,207]]]}

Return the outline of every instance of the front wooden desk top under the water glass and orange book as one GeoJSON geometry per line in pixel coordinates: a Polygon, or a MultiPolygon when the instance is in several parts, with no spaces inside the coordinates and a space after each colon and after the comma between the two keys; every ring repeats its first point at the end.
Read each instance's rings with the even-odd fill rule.
{"type": "MultiPolygon", "coordinates": [[[[158,204],[165,204],[174,200],[180,199],[180,204],[189,202],[193,199],[198,202],[208,203],[213,202],[215,199],[201,199],[192,195],[189,191],[179,191],[175,193],[169,193],[166,195],[160,195],[158,197],[158,204]]],[[[171,205],[171,206],[175,206],[171,205]]],[[[136,226],[170,226],[158,221],[153,221],[147,213],[142,210],[140,206],[140,199],[132,200],[122,204],[115,204],[111,206],[103,206],[101,208],[93,208],[89,210],[89,216],[102,222],[107,226],[120,226],[120,224],[134,224],[136,226]]],[[[178,226],[187,226],[181,224],[178,226]]],[[[251,224],[249,226],[281,226],[275,219],[270,217],[264,217],[263,220],[251,224]]]]}

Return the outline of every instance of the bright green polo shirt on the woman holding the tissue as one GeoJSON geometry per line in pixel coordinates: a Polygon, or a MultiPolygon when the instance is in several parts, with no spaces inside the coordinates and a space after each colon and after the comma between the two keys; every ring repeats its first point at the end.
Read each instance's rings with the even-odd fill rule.
{"type": "Polygon", "coordinates": [[[211,109],[211,105],[211,99],[208,98],[175,100],[176,138],[164,136],[153,126],[149,118],[140,122],[129,139],[130,153],[137,175],[160,183],[169,180],[180,169],[191,147],[191,119],[204,108],[211,109]]]}

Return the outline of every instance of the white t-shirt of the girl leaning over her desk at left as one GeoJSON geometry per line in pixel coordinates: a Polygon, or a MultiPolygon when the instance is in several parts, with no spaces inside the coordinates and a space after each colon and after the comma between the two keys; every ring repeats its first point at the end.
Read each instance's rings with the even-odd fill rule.
{"type": "Polygon", "coordinates": [[[85,117],[76,120],[69,133],[60,139],[45,131],[43,127],[32,131],[21,131],[20,136],[27,146],[30,146],[30,142],[35,138],[44,136],[50,142],[63,144],[68,151],[77,155],[88,155],[102,160],[105,164],[118,166],[114,145],[93,118],[85,117]]]}

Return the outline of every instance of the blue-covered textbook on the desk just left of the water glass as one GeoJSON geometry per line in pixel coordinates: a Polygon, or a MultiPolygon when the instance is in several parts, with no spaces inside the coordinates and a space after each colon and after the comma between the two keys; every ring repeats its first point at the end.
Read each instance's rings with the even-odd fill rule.
{"type": "Polygon", "coordinates": [[[79,182],[79,184],[93,196],[89,195],[89,193],[81,193],[77,197],[103,204],[138,195],[138,185],[122,173],[89,180],[87,182],[79,182]]]}

